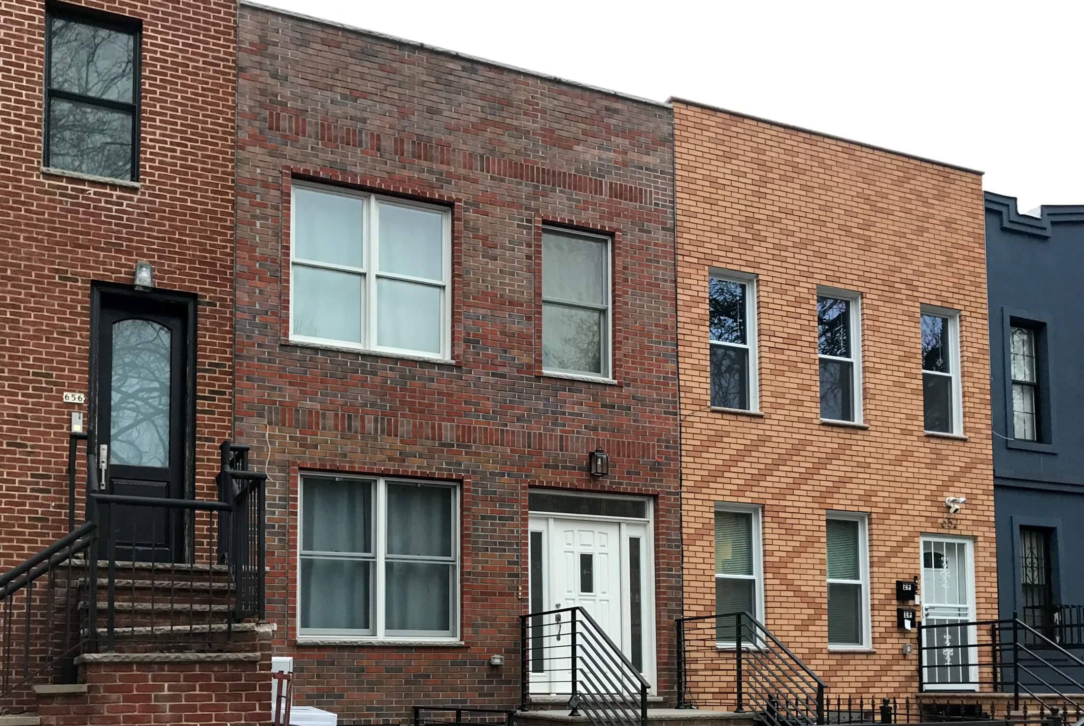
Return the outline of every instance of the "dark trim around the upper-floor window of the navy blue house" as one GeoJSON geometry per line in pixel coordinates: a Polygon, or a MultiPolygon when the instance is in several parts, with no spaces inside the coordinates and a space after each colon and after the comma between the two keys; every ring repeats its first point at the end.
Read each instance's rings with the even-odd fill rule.
{"type": "Polygon", "coordinates": [[[1005,445],[1008,449],[1034,451],[1055,454],[1054,422],[1056,403],[1053,396],[1054,361],[1050,358],[1053,347],[1049,343],[1049,320],[1036,313],[1010,308],[1002,309],[1002,365],[1005,374],[1003,396],[1005,401],[1005,445]],[[1035,435],[1036,439],[1017,439],[1012,415],[1012,328],[1027,327],[1035,332],[1035,378],[1037,379],[1037,396],[1035,398],[1035,435]]]}

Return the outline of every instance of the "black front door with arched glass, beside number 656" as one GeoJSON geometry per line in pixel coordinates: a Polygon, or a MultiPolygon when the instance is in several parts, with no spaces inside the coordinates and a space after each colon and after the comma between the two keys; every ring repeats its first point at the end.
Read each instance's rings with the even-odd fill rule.
{"type": "MultiPolygon", "coordinates": [[[[150,290],[102,291],[95,302],[94,453],[102,488],[184,498],[191,306],[150,290]]],[[[182,560],[182,510],[111,505],[103,514],[118,559],[182,560]]]]}

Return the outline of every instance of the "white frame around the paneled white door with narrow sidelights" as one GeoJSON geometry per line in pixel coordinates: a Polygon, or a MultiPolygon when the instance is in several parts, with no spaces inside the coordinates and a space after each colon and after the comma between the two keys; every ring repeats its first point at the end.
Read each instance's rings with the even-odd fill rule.
{"type": "MultiPolygon", "coordinates": [[[[592,496],[605,496],[595,495],[591,493],[592,496]]],[[[627,498],[627,497],[623,497],[627,498]]],[[[637,497],[638,498],[638,497],[637,497]]],[[[556,520],[573,520],[573,521],[584,521],[584,522],[616,522],[619,524],[619,536],[620,536],[620,579],[622,587],[627,587],[630,574],[630,562],[629,562],[629,537],[640,536],[641,537],[641,558],[643,562],[641,571],[641,601],[643,607],[643,623],[641,633],[641,648],[643,657],[643,673],[642,675],[650,684],[650,689],[648,693],[656,695],[656,622],[655,622],[655,531],[654,531],[654,506],[650,500],[646,500],[647,504],[647,518],[646,519],[635,519],[627,517],[604,517],[595,515],[569,515],[560,513],[550,513],[532,511],[529,515],[528,531],[541,531],[542,532],[542,571],[545,574],[546,582],[543,583],[543,595],[542,602],[544,609],[552,610],[554,605],[554,599],[552,594],[549,592],[549,580],[551,579],[550,567],[551,567],[551,554],[553,552],[553,539],[551,536],[551,523],[556,520]]],[[[529,537],[528,537],[529,542],[529,537]]],[[[528,558],[529,562],[529,558],[528,558]]],[[[530,565],[528,563],[528,608],[527,611],[530,612],[530,588],[534,586],[534,583],[530,580],[530,565]]],[[[631,626],[631,608],[630,598],[621,598],[621,641],[617,645],[621,648],[622,652],[629,657],[631,645],[632,645],[632,626],[631,626]]],[[[631,660],[631,658],[630,658],[631,660]]],[[[528,659],[528,663],[530,660],[528,659]]],[[[530,667],[530,664],[528,664],[530,667]]],[[[541,674],[533,674],[534,676],[541,674]]],[[[531,678],[532,686],[535,683],[549,684],[546,678],[531,678]]],[[[539,686],[541,688],[541,685],[539,686]]],[[[532,687],[532,693],[535,696],[545,695],[542,690],[537,690],[532,687]]]]}

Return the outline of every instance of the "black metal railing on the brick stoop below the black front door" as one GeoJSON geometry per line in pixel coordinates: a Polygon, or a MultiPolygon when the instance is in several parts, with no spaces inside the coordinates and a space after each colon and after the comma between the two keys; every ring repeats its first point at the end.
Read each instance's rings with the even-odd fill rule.
{"type": "Polygon", "coordinates": [[[0,697],[43,674],[74,682],[75,656],[118,638],[171,649],[264,615],[267,476],[248,469],[246,446],[222,443],[217,501],[109,493],[88,453],[75,528],[81,440],[69,436],[68,534],[0,575],[0,697]]]}

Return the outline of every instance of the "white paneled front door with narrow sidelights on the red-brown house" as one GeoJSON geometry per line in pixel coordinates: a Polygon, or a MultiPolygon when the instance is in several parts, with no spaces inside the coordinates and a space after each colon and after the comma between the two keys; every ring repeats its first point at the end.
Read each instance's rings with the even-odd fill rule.
{"type": "MultiPolygon", "coordinates": [[[[648,662],[651,632],[647,527],[641,522],[530,518],[530,612],[528,652],[531,692],[571,692],[572,612],[582,607],[641,672],[648,662]],[[565,612],[553,612],[565,610],[565,612]]],[[[582,620],[582,615],[576,615],[582,620]]],[[[586,623],[577,624],[578,647],[603,649],[586,623]]],[[[602,653],[598,653],[602,657],[602,653]]],[[[581,659],[582,660],[582,659],[581,659]]],[[[654,663],[651,663],[654,665],[654,663]]],[[[649,679],[650,683],[650,679],[649,679]]],[[[577,690],[590,692],[578,673],[577,690]]]]}

